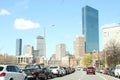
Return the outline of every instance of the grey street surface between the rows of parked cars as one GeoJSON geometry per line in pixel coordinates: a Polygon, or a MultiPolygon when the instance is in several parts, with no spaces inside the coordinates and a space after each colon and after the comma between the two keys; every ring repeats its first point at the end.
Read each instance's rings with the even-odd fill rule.
{"type": "Polygon", "coordinates": [[[50,80],[120,80],[120,79],[101,73],[96,73],[96,75],[93,74],[87,75],[85,71],[76,71],[72,74],[63,77],[56,77],[50,80]]]}

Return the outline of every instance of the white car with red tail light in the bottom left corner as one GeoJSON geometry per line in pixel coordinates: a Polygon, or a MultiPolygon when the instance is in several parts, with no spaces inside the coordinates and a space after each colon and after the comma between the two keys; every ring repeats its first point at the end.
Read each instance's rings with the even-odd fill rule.
{"type": "Polygon", "coordinates": [[[0,80],[27,80],[27,76],[15,65],[0,65],[0,80]]]}

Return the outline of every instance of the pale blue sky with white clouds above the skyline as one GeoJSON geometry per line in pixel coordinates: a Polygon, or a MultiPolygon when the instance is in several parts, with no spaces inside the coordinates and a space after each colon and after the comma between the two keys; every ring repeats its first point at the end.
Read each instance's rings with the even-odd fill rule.
{"type": "Polygon", "coordinates": [[[82,34],[82,7],[99,11],[99,41],[102,50],[102,26],[120,22],[120,0],[0,0],[0,53],[15,55],[16,39],[35,46],[46,29],[47,58],[59,43],[73,54],[73,41],[82,34]]]}

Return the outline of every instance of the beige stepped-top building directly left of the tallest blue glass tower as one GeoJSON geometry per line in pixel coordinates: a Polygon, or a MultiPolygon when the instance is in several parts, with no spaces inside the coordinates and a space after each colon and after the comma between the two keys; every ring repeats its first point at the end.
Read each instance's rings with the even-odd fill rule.
{"type": "Polygon", "coordinates": [[[83,57],[85,54],[85,40],[84,35],[77,35],[74,41],[74,55],[76,59],[83,57]]]}

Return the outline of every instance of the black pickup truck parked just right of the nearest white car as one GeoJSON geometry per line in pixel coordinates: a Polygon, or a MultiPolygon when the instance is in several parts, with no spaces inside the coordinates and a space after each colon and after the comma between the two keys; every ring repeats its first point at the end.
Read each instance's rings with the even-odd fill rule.
{"type": "Polygon", "coordinates": [[[23,71],[27,74],[28,79],[47,80],[47,75],[40,64],[28,64],[23,71]]]}

